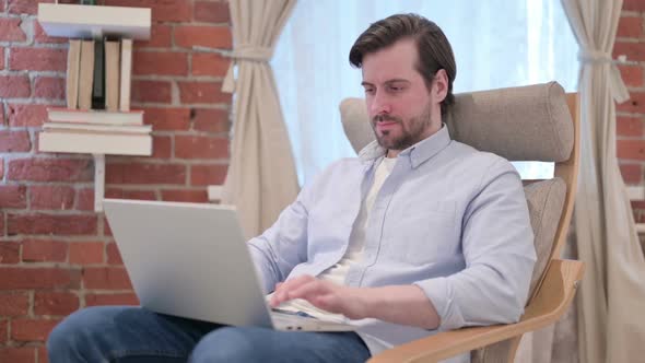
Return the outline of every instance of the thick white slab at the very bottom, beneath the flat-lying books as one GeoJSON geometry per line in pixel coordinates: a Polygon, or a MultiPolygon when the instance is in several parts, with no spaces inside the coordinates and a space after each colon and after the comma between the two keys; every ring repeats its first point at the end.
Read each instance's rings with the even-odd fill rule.
{"type": "Polygon", "coordinates": [[[38,150],[43,152],[148,156],[152,154],[152,137],[136,133],[43,131],[38,134],[38,150]]]}

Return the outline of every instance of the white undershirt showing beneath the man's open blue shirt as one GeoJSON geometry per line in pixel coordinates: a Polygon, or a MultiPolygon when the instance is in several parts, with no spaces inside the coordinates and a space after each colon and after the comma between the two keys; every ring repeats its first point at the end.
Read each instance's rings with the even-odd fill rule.
{"type": "MultiPolygon", "coordinates": [[[[374,183],[372,184],[372,187],[370,188],[367,196],[361,202],[361,211],[359,212],[359,216],[356,216],[356,220],[354,221],[352,233],[350,234],[350,243],[345,254],[340,259],[340,261],[338,261],[338,264],[322,271],[318,276],[319,279],[331,281],[336,284],[342,285],[344,284],[345,277],[350,268],[354,264],[361,262],[363,258],[363,247],[365,246],[365,231],[367,230],[367,221],[370,220],[372,206],[374,206],[376,196],[378,195],[380,187],[383,187],[383,184],[385,183],[385,180],[391,173],[392,168],[395,167],[396,162],[396,157],[384,157],[383,161],[376,167],[376,172],[374,173],[374,183]]],[[[304,312],[317,318],[322,318],[329,321],[344,321],[344,317],[342,315],[331,314],[326,311],[319,309],[302,298],[289,301],[280,305],[280,308],[291,312],[304,312]]]]}

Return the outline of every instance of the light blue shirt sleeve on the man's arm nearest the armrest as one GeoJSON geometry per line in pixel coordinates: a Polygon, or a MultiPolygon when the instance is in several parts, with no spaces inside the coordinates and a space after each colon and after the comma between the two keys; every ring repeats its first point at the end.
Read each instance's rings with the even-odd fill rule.
{"type": "Polygon", "coordinates": [[[536,261],[533,233],[519,175],[497,159],[466,208],[466,268],[415,282],[441,318],[439,330],[519,320],[536,261]]]}

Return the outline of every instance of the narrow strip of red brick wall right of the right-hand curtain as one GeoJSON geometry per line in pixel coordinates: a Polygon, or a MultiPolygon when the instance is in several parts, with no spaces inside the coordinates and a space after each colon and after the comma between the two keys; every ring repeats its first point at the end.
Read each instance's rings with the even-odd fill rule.
{"type": "MultiPolygon", "coordinates": [[[[645,1],[624,0],[614,56],[628,56],[619,66],[630,101],[618,106],[618,157],[625,184],[643,186],[645,166],[645,1]]],[[[632,201],[634,219],[645,223],[645,201],[632,201]]],[[[642,236],[643,238],[644,236],[642,236]]]]}

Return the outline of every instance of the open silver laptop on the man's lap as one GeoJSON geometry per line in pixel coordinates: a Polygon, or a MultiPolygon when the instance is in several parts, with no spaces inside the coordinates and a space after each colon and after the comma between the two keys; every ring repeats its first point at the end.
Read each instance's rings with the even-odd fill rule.
{"type": "Polygon", "coordinates": [[[233,206],[104,199],[141,306],[232,326],[349,331],[355,327],[271,311],[233,206]]]}

